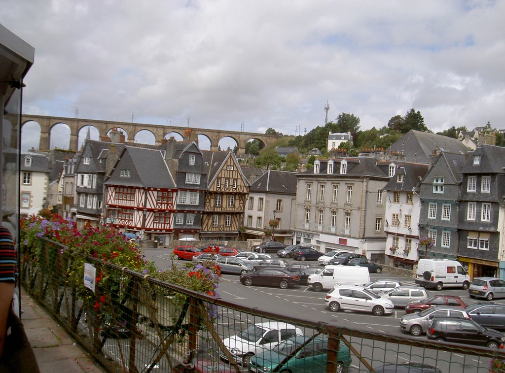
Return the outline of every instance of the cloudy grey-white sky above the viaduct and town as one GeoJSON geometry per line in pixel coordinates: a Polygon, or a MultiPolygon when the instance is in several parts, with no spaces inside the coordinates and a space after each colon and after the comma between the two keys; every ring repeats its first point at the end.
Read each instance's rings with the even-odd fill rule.
{"type": "Polygon", "coordinates": [[[351,113],[362,130],[411,108],[435,132],[505,128],[504,14],[504,1],[0,0],[0,22],[35,48],[26,114],[289,135],[324,125],[327,101],[328,120],[351,113]]]}

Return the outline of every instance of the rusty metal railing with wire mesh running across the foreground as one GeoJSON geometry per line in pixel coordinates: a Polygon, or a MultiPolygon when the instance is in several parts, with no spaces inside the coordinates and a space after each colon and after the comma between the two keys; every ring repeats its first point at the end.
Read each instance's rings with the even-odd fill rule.
{"type": "MultiPolygon", "coordinates": [[[[75,270],[74,258],[62,254],[63,247],[57,243],[41,242],[37,261],[21,252],[23,286],[107,371],[199,371],[195,365],[219,371],[217,366],[224,361],[228,371],[375,372],[382,371],[380,366],[384,364],[407,362],[437,366],[444,373],[501,371],[489,368],[491,359],[504,359],[499,350],[398,338],[310,319],[286,318],[87,257],[97,274],[107,266],[108,273],[114,273],[118,279],[113,289],[116,296],[104,309],[100,298],[105,289],[100,289],[100,282],[95,284],[94,293],[89,290],[83,295],[69,281],[69,273],[75,270]],[[93,306],[83,302],[86,296],[92,297],[93,306]],[[267,347],[279,342],[279,334],[265,335],[254,352],[266,352],[249,360],[243,354],[249,351],[232,345],[227,338],[259,323],[279,326],[280,339],[292,334],[306,337],[298,338],[297,344],[281,343],[277,347],[281,354],[275,354],[267,347]]],[[[252,340],[258,336],[252,336],[257,332],[258,329],[249,328],[243,333],[251,340],[249,344],[254,344],[252,340]]]]}

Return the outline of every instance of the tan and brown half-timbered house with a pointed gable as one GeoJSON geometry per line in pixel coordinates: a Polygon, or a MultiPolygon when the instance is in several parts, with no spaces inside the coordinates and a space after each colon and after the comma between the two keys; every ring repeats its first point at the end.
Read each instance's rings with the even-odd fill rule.
{"type": "Polygon", "coordinates": [[[250,184],[232,151],[204,150],[208,191],[200,239],[237,240],[250,184]]]}

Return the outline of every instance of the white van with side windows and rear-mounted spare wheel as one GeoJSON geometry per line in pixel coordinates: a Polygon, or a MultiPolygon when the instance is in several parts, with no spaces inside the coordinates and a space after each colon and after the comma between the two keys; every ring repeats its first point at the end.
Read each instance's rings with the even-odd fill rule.
{"type": "Polygon", "coordinates": [[[457,260],[419,259],[416,284],[422,287],[442,290],[443,288],[468,289],[470,276],[457,260]]]}

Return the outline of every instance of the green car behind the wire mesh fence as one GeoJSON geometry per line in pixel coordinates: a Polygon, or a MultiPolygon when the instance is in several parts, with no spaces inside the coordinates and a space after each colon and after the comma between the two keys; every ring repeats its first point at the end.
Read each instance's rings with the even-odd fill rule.
{"type": "MultiPolygon", "coordinates": [[[[292,337],[279,343],[272,350],[251,356],[249,371],[253,373],[267,373],[276,369],[278,372],[305,373],[310,371],[312,373],[325,373],[327,362],[326,346],[328,345],[328,338],[326,336],[314,338],[292,355],[296,348],[308,339],[310,337],[307,336],[292,337]],[[279,366],[288,355],[292,356],[282,366],[279,366]]],[[[347,370],[351,362],[349,348],[341,343],[337,357],[337,373],[347,370]]]]}

